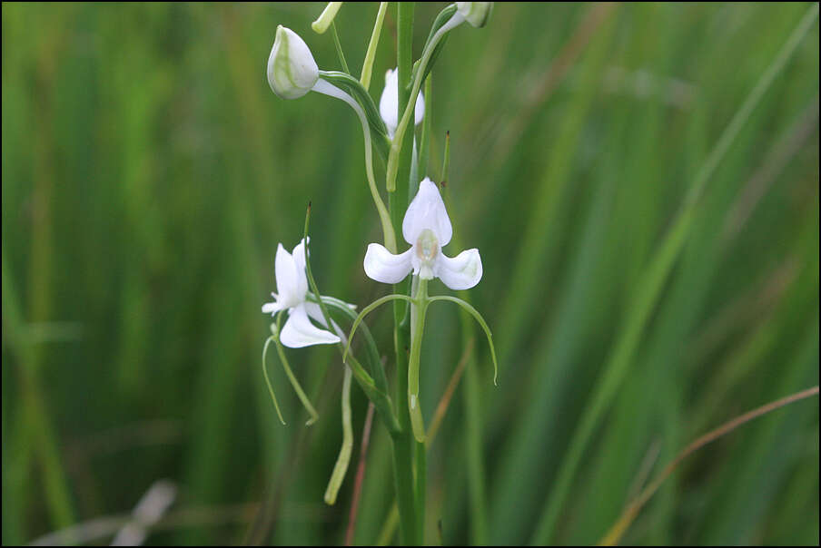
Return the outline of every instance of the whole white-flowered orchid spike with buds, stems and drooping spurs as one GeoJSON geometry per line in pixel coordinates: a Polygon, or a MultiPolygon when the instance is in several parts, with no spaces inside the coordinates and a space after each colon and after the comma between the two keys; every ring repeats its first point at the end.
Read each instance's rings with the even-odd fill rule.
{"type": "MultiPolygon", "coordinates": [[[[331,2],[320,17],[313,22],[312,28],[314,31],[322,34],[331,28],[336,37],[333,19],[339,11],[340,5],[339,2],[331,2]]],[[[464,22],[475,27],[483,26],[490,16],[492,5],[493,3],[489,2],[458,2],[444,8],[433,23],[420,59],[413,64],[412,69],[409,71],[408,69],[411,67],[405,66],[404,70],[407,72],[404,74],[400,74],[401,69],[391,68],[387,71],[379,108],[371,99],[368,87],[376,44],[379,41],[387,3],[381,3],[360,79],[348,73],[347,64],[344,62],[341,49],[339,49],[338,40],[338,52],[342,67],[345,70],[344,72],[323,71],[320,70],[310,48],[299,34],[282,25],[277,27],[276,30],[276,38],[268,59],[267,70],[268,83],[273,93],[283,99],[297,99],[309,92],[335,97],[347,103],[356,113],[361,123],[365,145],[365,171],[371,196],[381,221],[383,237],[382,243],[371,243],[367,246],[363,267],[369,278],[394,286],[394,292],[391,295],[378,298],[370,305],[362,308],[359,314],[356,313],[355,307],[351,304],[336,298],[321,296],[311,271],[307,218],[303,238],[293,248],[292,253],[288,253],[282,247],[282,244],[279,244],[276,251],[274,271],[278,293],[272,293],[274,300],[262,306],[262,312],[270,313],[274,317],[271,325],[272,335],[268,338],[263,350],[262,365],[280,419],[282,420],[282,414],[274,396],[264,361],[270,343],[273,342],[276,345],[286,375],[302,400],[302,404],[312,416],[309,424],[316,420],[316,411],[313,409],[308,397],[305,396],[298,380],[292,374],[283,347],[299,348],[335,344],[341,351],[344,364],[345,377],[342,386],[343,445],[331,476],[331,482],[325,493],[325,501],[329,504],[333,504],[336,498],[351,456],[351,377],[357,380],[366,396],[371,399],[381,419],[391,432],[394,441],[401,440],[402,436],[412,434],[416,442],[424,447],[426,435],[419,396],[420,347],[425,314],[430,303],[448,301],[458,304],[479,321],[490,343],[494,371],[496,370],[496,356],[493,350],[492,338],[490,338],[490,329],[479,312],[460,298],[446,295],[430,296],[428,294],[428,283],[434,278],[440,279],[446,287],[454,290],[474,287],[482,277],[482,263],[477,249],[461,251],[453,258],[448,257],[443,252],[442,248],[447,246],[453,237],[453,229],[445,202],[437,184],[425,176],[428,168],[425,165],[427,156],[422,158],[421,153],[418,152],[416,135],[414,134],[411,138],[412,144],[403,144],[405,142],[405,132],[408,130],[411,118],[414,122],[411,125],[412,134],[415,133],[414,126],[423,122],[426,116],[430,116],[430,109],[427,112],[425,110],[425,99],[421,93],[421,88],[428,81],[426,90],[430,90],[430,70],[440,54],[444,38],[452,29],[464,22]],[[401,88],[401,83],[405,86],[404,88],[401,88]],[[400,93],[401,91],[402,93],[400,93]],[[373,169],[372,151],[374,148],[386,161],[385,187],[389,196],[391,196],[391,200],[389,200],[390,210],[385,206],[385,201],[382,200],[381,192],[377,186],[373,169]],[[408,151],[409,149],[412,149],[412,167],[410,177],[404,181],[408,185],[407,188],[415,190],[418,187],[418,191],[416,191],[412,201],[406,204],[407,210],[405,210],[401,226],[399,226],[400,210],[396,208],[404,206],[397,203],[397,196],[401,195],[396,193],[397,177],[401,171],[399,164],[401,155],[405,153],[403,150],[408,151]],[[397,248],[397,233],[400,230],[403,239],[411,246],[410,249],[404,252],[399,252],[397,248]],[[409,275],[411,276],[410,291],[408,284],[405,282],[409,275]],[[396,319],[394,337],[396,347],[394,349],[397,354],[397,372],[402,373],[404,367],[407,367],[407,384],[405,384],[403,378],[398,378],[394,397],[389,396],[381,353],[378,351],[370,331],[362,321],[373,309],[390,301],[395,301],[394,306],[398,307],[394,308],[394,318],[396,319]],[[407,304],[402,304],[402,302],[407,304]],[[285,318],[284,325],[282,325],[283,318],[285,318]],[[338,323],[342,321],[351,323],[350,335],[347,337],[338,323]],[[365,345],[363,351],[367,358],[367,369],[361,366],[359,360],[351,351],[351,340],[358,329],[364,335],[365,345]],[[410,348],[402,348],[398,342],[402,339],[407,340],[406,331],[409,331],[410,334],[410,348]],[[410,353],[406,355],[405,352],[410,353]],[[405,398],[407,398],[407,403],[404,403],[405,398]]],[[[397,11],[400,12],[400,9],[398,7],[397,11]]],[[[399,64],[399,66],[402,67],[403,65],[399,64]]],[[[430,133],[426,135],[426,131],[430,132],[429,122],[423,125],[421,142],[430,142],[430,133]],[[427,128],[427,130],[424,128],[427,128]]],[[[447,151],[446,148],[446,157],[447,151]]],[[[283,420],[282,422],[284,423],[283,420]]],[[[423,456],[419,456],[418,451],[416,456],[395,456],[395,467],[400,466],[401,463],[411,463],[412,465],[420,458],[423,458],[423,456]]],[[[407,472],[407,470],[395,470],[398,477],[407,472]]],[[[411,470],[410,474],[411,477],[414,477],[415,469],[411,470]]],[[[421,480],[422,484],[423,479],[421,480]]],[[[403,539],[412,540],[414,537],[411,532],[406,530],[408,529],[406,525],[413,522],[411,519],[406,520],[406,518],[409,517],[407,514],[413,508],[409,508],[409,504],[403,504],[402,501],[405,497],[401,493],[401,482],[399,480],[397,480],[397,491],[400,514],[402,514],[403,539]]],[[[423,508],[416,508],[416,512],[423,512],[423,508]]]]}

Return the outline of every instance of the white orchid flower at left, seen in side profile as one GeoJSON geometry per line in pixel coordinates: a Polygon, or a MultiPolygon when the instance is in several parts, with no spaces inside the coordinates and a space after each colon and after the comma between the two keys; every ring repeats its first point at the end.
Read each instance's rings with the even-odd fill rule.
{"type": "MultiPolygon", "coordinates": [[[[308,277],[305,274],[305,240],[300,241],[293,253],[289,253],[279,244],[274,260],[276,287],[279,294],[272,293],[273,302],[262,305],[262,313],[275,315],[281,310],[288,310],[288,319],[279,334],[280,341],[286,347],[302,348],[312,345],[332,345],[340,338],[330,331],[322,316],[318,304],[308,301],[308,277]],[[313,325],[311,318],[322,328],[313,325]]],[[[331,323],[333,323],[331,321],[331,323]]],[[[334,331],[339,331],[332,325],[334,331]]]]}

